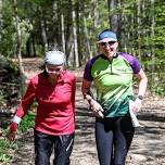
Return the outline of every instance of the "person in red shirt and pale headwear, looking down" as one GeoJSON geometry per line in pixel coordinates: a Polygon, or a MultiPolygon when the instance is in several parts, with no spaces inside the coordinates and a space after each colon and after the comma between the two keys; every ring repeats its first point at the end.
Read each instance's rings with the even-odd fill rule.
{"type": "Polygon", "coordinates": [[[65,55],[48,51],[45,69],[29,80],[27,91],[10,125],[9,139],[14,140],[17,126],[34,100],[38,102],[35,119],[36,165],[50,165],[54,147],[54,165],[69,165],[75,131],[76,76],[64,69],[65,55]]]}

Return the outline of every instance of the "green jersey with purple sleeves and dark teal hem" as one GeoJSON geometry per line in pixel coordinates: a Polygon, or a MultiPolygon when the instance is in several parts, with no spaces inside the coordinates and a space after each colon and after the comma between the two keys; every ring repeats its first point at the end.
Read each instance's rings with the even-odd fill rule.
{"type": "Polygon", "coordinates": [[[128,102],[134,99],[132,76],[140,69],[139,61],[123,52],[118,52],[112,61],[99,54],[87,62],[84,78],[94,82],[97,100],[105,117],[128,114],[128,102]]]}

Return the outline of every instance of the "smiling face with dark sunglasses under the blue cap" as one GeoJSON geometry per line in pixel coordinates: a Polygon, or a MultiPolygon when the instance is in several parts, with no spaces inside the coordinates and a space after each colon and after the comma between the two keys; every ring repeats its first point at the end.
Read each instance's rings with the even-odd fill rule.
{"type": "Polygon", "coordinates": [[[99,46],[101,52],[109,59],[112,59],[117,52],[118,42],[117,41],[100,42],[99,46]]]}

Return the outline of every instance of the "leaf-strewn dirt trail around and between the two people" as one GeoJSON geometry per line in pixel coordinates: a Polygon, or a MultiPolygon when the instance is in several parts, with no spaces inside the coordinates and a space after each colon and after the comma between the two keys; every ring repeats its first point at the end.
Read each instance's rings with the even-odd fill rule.
{"type": "MultiPolygon", "coordinates": [[[[26,76],[39,72],[41,60],[25,59],[26,76]]],[[[80,92],[82,71],[77,71],[76,136],[71,165],[99,165],[94,142],[94,117],[80,92]]],[[[165,99],[147,92],[138,115],[142,127],[136,128],[126,165],[165,165],[165,99]]],[[[34,165],[33,129],[18,137],[18,150],[11,165],[34,165]]]]}

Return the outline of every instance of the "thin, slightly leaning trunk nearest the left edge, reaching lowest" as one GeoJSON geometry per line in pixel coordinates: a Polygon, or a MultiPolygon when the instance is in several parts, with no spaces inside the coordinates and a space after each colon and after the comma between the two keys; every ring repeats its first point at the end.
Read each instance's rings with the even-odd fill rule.
{"type": "Polygon", "coordinates": [[[16,31],[17,31],[17,48],[16,48],[16,56],[18,60],[18,67],[21,72],[21,94],[23,96],[25,92],[25,73],[24,73],[24,67],[23,67],[23,62],[22,62],[22,54],[21,54],[21,49],[22,49],[22,33],[21,33],[21,27],[20,27],[20,18],[17,14],[17,0],[13,0],[13,7],[14,7],[14,17],[16,22],[16,31]]]}

